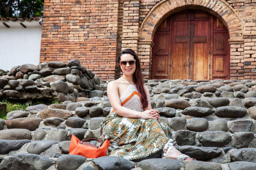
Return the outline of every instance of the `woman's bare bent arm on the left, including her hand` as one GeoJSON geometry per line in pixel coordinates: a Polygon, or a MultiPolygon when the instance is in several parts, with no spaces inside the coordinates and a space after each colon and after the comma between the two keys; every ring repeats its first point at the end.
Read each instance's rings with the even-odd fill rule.
{"type": "Polygon", "coordinates": [[[116,81],[111,81],[108,83],[107,93],[109,102],[116,114],[128,118],[154,118],[157,120],[157,118],[155,117],[157,113],[156,110],[145,110],[143,112],[140,112],[130,110],[128,108],[121,106],[120,97],[118,95],[118,83],[116,81]]]}

